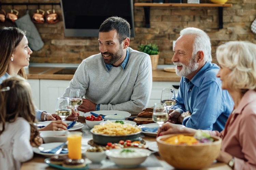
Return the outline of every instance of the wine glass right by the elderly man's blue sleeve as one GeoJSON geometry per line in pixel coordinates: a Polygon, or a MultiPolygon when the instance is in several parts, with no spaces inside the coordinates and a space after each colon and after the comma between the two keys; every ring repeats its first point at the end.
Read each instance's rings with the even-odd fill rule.
{"type": "Polygon", "coordinates": [[[166,107],[168,109],[168,112],[170,111],[170,108],[176,104],[175,100],[175,92],[174,89],[170,88],[164,88],[162,90],[162,95],[161,95],[161,104],[165,103],[166,107]]]}

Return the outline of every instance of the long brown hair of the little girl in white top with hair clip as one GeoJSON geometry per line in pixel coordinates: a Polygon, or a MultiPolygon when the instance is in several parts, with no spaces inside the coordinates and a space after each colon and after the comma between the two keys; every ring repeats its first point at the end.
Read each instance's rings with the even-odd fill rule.
{"type": "Polygon", "coordinates": [[[35,122],[35,108],[32,101],[31,87],[20,76],[10,77],[0,85],[0,123],[3,133],[6,122],[14,122],[17,117],[27,120],[30,125],[35,122]],[[10,87],[10,90],[3,89],[10,87]]]}

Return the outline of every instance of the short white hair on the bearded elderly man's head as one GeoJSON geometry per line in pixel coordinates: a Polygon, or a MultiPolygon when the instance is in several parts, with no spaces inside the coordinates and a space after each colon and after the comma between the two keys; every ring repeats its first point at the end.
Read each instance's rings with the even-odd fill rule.
{"type": "MultiPolygon", "coordinates": [[[[196,36],[193,44],[192,56],[196,56],[198,51],[203,51],[204,61],[212,61],[212,48],[210,37],[203,30],[198,28],[185,28],[180,32],[180,39],[183,35],[194,34],[196,36]]],[[[178,40],[177,39],[177,40],[178,40]]]]}

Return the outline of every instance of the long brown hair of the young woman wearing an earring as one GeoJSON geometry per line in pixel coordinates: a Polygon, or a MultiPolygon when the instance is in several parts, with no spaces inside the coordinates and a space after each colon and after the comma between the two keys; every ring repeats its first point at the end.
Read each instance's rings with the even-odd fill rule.
{"type": "MultiPolygon", "coordinates": [[[[12,53],[25,35],[24,31],[15,27],[0,28],[0,77],[8,70],[12,53]]],[[[18,75],[27,79],[24,68],[19,70],[18,75]]]]}

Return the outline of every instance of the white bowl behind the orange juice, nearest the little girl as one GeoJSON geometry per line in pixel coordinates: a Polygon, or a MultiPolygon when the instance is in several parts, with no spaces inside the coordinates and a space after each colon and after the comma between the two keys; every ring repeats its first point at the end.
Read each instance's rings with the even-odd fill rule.
{"type": "Polygon", "coordinates": [[[40,131],[39,133],[45,143],[67,141],[68,131],[40,131]]]}

